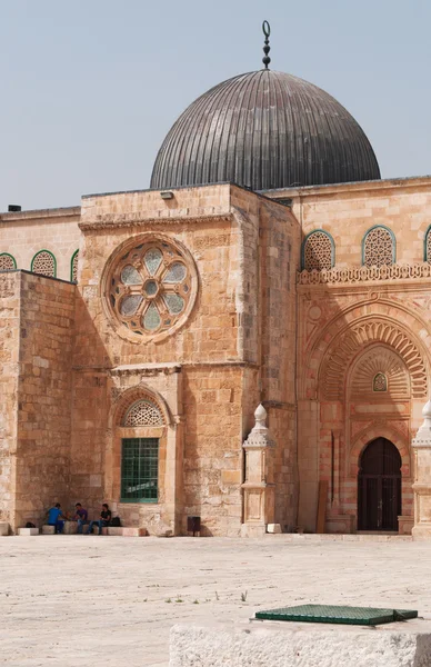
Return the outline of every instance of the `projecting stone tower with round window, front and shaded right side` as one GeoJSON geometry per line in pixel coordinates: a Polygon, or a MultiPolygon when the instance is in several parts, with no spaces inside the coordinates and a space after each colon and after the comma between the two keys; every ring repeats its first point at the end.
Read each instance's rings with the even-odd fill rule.
{"type": "MultiPolygon", "coordinates": [[[[154,390],[181,424],[183,435],[176,429],[176,435],[172,432],[172,456],[178,458],[183,447],[183,486],[170,478],[178,490],[177,530],[184,531],[187,516],[197,515],[208,535],[239,534],[241,445],[253,424],[260,390],[273,415],[274,436],[280,436],[278,511],[283,524],[293,522],[291,402],[299,242],[291,237],[295,227],[285,207],[232,186],[181,188],[170,200],[152,191],[84,198],[73,416],[73,424],[81,427],[73,434],[72,455],[72,486],[81,494],[87,488],[82,501],[92,508],[104,497],[126,520],[151,529],[173,520],[162,507],[118,505],[116,477],[120,470],[107,452],[119,447],[121,428],[118,430],[110,391],[116,392],[116,400],[122,400],[121,392],[129,385],[121,377],[132,372],[133,382],[154,390]],[[131,238],[138,246],[158,235],[191,253],[199,278],[197,298],[191,313],[172,335],[133,342],[107,311],[109,267],[131,238]],[[156,377],[169,364],[176,364],[182,377],[180,411],[168,386],[151,377],[151,368],[156,377]],[[258,377],[260,365],[263,372],[258,377]],[[87,386],[99,372],[112,389],[87,386]],[[88,396],[88,401],[77,395],[82,382],[87,382],[82,396],[88,396]],[[104,424],[109,425],[106,432],[104,424]],[[81,478],[78,461],[82,462],[81,478]],[[97,477],[103,469],[101,461],[106,461],[104,480],[97,477]]],[[[160,497],[166,488],[161,485],[160,497]]]]}

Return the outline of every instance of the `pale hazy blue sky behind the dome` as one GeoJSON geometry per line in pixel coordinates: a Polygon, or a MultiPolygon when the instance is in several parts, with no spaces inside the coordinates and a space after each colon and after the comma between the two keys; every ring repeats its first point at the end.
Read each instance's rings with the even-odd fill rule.
{"type": "Polygon", "coordinates": [[[199,94],[271,67],[333,94],[383,178],[431,173],[431,0],[0,0],[0,211],[149,187],[199,94]]]}

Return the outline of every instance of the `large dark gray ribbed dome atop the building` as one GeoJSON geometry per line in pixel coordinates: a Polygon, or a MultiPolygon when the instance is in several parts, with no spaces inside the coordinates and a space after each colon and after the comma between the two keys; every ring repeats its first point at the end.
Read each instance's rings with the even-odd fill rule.
{"type": "Polygon", "coordinates": [[[373,180],[379,165],[354,118],[308,81],[263,69],[198,98],[157,156],[151,188],[223,181],[253,190],[373,180]]]}

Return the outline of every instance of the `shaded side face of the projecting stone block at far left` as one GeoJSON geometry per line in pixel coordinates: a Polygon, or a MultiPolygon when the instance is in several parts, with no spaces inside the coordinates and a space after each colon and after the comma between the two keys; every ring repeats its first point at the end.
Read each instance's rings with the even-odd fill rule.
{"type": "Polygon", "coordinates": [[[20,278],[20,350],[13,528],[67,507],[71,435],[73,285],[20,278]]]}

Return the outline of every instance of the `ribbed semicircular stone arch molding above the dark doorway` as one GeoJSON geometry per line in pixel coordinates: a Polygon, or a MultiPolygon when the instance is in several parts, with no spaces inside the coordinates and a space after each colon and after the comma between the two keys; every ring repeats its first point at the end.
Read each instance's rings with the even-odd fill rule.
{"type": "Polygon", "coordinates": [[[347,368],[359,349],[372,342],[381,342],[401,357],[410,375],[412,397],[425,397],[427,370],[418,347],[401,328],[392,322],[373,320],[351,327],[332,341],[321,372],[324,399],[342,399],[347,368]]]}

